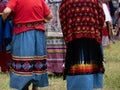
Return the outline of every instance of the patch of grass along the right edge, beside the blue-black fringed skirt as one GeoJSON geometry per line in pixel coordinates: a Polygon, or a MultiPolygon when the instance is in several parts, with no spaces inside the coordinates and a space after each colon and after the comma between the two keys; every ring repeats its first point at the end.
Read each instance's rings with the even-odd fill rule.
{"type": "Polygon", "coordinates": [[[104,49],[104,53],[106,61],[104,85],[110,90],[120,90],[120,41],[116,44],[111,43],[110,48],[104,49]]]}

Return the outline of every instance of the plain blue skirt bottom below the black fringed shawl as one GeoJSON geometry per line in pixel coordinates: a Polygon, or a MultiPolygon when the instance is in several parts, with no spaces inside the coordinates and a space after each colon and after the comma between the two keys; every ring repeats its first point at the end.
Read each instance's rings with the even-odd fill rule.
{"type": "Polygon", "coordinates": [[[103,87],[103,74],[66,76],[67,90],[93,90],[103,87]]]}

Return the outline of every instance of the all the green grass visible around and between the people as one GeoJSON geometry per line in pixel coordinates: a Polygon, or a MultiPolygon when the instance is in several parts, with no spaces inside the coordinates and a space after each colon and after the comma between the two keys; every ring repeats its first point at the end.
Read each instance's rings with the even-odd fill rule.
{"type": "MultiPolygon", "coordinates": [[[[105,74],[104,87],[97,90],[120,90],[120,41],[104,48],[105,74]]],[[[31,88],[31,87],[30,87],[31,88]]],[[[14,90],[9,87],[9,74],[0,73],[0,90],[14,90]]],[[[39,90],[66,90],[62,76],[49,76],[49,86],[39,90]]]]}

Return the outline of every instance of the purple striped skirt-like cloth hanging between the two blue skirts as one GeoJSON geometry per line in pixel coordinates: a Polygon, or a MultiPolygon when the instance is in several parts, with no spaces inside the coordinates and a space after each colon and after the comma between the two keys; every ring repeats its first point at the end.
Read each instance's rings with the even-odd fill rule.
{"type": "Polygon", "coordinates": [[[48,72],[62,73],[66,46],[60,35],[47,37],[47,66],[48,72]]]}

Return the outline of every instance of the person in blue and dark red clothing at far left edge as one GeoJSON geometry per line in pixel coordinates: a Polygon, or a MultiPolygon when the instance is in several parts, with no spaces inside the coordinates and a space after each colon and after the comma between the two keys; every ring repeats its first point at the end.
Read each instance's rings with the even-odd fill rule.
{"type": "Polygon", "coordinates": [[[8,21],[3,23],[3,20],[2,20],[3,10],[6,7],[6,4],[7,4],[7,1],[5,1],[5,0],[0,1],[0,67],[1,67],[2,72],[9,71],[8,62],[10,61],[10,58],[11,58],[11,54],[9,52],[10,49],[7,50],[7,48],[6,48],[7,43],[5,42],[7,39],[10,40],[10,38],[11,38],[7,35],[8,34],[7,31],[9,31],[11,29],[8,27],[11,27],[11,26],[8,24],[9,23],[8,21]],[[5,35],[7,35],[7,36],[5,36],[5,35]]]}

